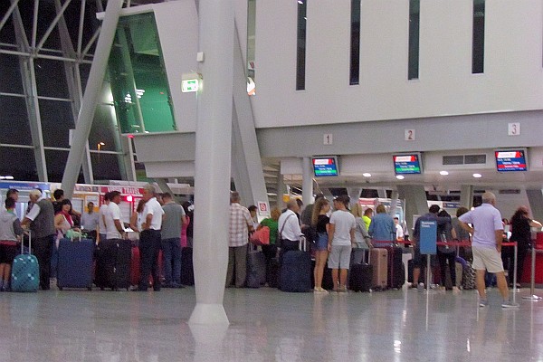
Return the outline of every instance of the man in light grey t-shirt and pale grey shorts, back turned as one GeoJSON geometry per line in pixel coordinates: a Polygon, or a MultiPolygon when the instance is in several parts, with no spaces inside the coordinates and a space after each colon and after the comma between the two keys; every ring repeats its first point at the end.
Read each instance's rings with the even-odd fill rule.
{"type": "Polygon", "coordinates": [[[332,270],[334,291],[347,292],[347,272],[350,263],[352,244],[355,243],[355,216],[348,211],[348,195],[340,195],[334,200],[336,211],[330,216],[329,228],[329,268],[332,270]],[[339,280],[339,286],[338,286],[339,280]]]}

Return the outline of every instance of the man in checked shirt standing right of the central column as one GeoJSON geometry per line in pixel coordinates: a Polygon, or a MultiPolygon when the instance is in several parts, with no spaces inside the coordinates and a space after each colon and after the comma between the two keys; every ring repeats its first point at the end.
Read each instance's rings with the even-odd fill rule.
{"type": "Polygon", "coordinates": [[[253,232],[251,213],[240,205],[240,195],[230,194],[230,237],[228,239],[228,270],[226,287],[232,284],[235,267],[235,287],[243,288],[247,269],[247,243],[249,232],[253,232]]]}

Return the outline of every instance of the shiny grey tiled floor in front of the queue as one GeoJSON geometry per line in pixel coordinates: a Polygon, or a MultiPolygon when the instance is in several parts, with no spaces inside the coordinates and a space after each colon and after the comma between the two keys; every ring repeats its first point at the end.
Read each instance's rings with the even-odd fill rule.
{"type": "Polygon", "coordinates": [[[193,288],[5,292],[0,362],[543,360],[543,301],[489,295],[479,309],[474,291],[228,289],[230,326],[191,329],[193,288]]]}

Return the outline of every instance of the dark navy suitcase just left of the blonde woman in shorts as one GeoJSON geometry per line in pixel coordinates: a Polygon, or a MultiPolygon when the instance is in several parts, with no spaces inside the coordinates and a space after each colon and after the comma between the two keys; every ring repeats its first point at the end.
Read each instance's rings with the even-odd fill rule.
{"type": "Polygon", "coordinates": [[[285,252],[282,257],[280,288],[281,291],[311,291],[311,255],[307,252],[304,240],[300,250],[285,252]]]}

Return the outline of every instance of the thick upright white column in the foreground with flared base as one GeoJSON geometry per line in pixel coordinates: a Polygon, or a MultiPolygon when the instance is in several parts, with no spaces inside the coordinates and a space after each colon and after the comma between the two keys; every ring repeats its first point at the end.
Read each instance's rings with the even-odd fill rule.
{"type": "Polygon", "coordinates": [[[189,324],[227,325],[224,283],[232,155],[233,2],[200,0],[199,52],[203,89],[198,94],[195,145],[194,266],[196,306],[189,324]],[[213,211],[213,212],[212,212],[213,211]]]}

